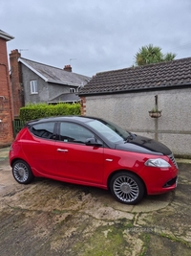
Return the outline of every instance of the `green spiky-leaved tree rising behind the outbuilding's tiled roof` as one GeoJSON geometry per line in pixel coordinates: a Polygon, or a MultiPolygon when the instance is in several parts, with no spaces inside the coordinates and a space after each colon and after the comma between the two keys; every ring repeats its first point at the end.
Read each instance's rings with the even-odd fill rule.
{"type": "Polygon", "coordinates": [[[164,55],[161,52],[161,48],[149,44],[147,46],[142,46],[141,48],[139,48],[138,53],[135,56],[135,62],[137,66],[141,66],[161,61],[170,61],[173,60],[176,56],[176,54],[172,53],[167,53],[164,55]]]}

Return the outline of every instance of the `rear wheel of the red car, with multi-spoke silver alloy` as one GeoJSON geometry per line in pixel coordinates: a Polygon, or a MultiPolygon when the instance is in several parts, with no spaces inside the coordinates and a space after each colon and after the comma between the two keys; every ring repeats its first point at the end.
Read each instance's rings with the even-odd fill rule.
{"type": "Polygon", "coordinates": [[[13,163],[12,175],[20,184],[29,184],[34,178],[30,166],[23,160],[17,160],[13,163]]]}

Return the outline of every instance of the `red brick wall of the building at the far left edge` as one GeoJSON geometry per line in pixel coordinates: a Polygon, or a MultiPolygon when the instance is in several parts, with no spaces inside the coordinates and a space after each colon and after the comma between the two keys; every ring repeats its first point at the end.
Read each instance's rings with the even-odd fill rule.
{"type": "Polygon", "coordinates": [[[13,140],[12,119],[7,44],[0,38],[0,147],[10,145],[13,140]]]}

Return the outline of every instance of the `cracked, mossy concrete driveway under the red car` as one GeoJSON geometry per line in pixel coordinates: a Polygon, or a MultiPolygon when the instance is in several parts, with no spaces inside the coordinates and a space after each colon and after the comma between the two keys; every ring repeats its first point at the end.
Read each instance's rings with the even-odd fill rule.
{"type": "Polygon", "coordinates": [[[0,149],[1,256],[191,255],[191,162],[178,188],[136,206],[109,192],[44,178],[14,181],[0,149]]]}

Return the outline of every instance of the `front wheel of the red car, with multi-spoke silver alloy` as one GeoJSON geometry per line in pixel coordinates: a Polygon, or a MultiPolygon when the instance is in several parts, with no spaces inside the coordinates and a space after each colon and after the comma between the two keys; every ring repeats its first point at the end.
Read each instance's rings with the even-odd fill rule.
{"type": "Polygon", "coordinates": [[[111,178],[110,190],[118,201],[126,204],[138,203],[145,194],[141,179],[127,172],[119,172],[111,178]]]}

